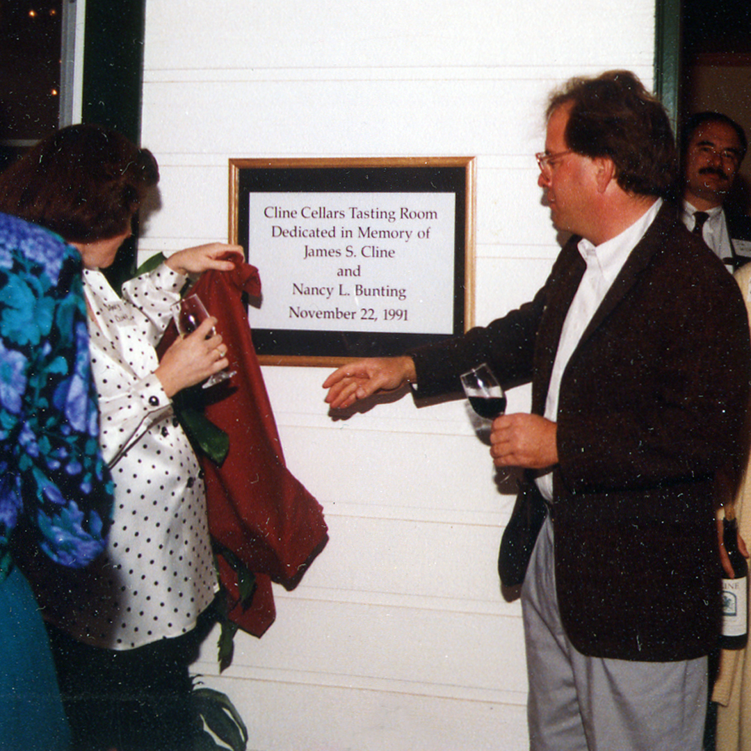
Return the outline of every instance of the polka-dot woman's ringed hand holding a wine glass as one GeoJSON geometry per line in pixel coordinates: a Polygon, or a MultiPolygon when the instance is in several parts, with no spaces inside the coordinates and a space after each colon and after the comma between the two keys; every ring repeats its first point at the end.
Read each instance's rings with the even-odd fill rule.
{"type": "Polygon", "coordinates": [[[227,347],[214,331],[216,318],[207,318],[193,333],[170,345],[154,373],[167,397],[195,386],[229,365],[227,347]]]}

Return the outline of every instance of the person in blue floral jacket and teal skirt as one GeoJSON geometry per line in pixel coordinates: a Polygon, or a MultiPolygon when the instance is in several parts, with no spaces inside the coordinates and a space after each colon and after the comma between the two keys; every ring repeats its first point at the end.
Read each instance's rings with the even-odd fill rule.
{"type": "Polygon", "coordinates": [[[79,255],[0,214],[0,749],[68,748],[47,632],[11,535],[54,562],[104,550],[112,481],[101,459],[79,255]]]}

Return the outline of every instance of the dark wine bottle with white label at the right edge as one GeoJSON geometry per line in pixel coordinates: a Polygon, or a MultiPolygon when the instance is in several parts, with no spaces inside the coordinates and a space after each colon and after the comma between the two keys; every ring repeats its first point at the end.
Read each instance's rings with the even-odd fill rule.
{"type": "Polygon", "coordinates": [[[748,640],[749,566],[738,550],[738,526],[733,508],[725,507],[722,538],[735,577],[728,579],[722,571],[722,635],[719,645],[725,650],[740,650],[748,640]]]}

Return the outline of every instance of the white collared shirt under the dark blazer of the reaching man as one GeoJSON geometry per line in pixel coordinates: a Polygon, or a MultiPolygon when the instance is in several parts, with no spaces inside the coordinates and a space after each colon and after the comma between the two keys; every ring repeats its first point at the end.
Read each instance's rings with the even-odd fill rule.
{"type": "MultiPolygon", "coordinates": [[[[547,389],[545,417],[548,420],[555,422],[558,417],[561,379],[581,335],[623,268],[623,264],[626,263],[626,258],[629,258],[632,250],[644,237],[661,206],[662,199],[658,198],[634,224],[617,237],[599,246],[593,246],[589,240],[579,241],[578,249],[584,261],[587,262],[587,270],[584,271],[569,312],[566,314],[566,320],[563,322],[553,372],[550,375],[550,385],[547,389]]],[[[552,471],[537,478],[537,485],[544,498],[549,501],[553,499],[552,471]]]]}

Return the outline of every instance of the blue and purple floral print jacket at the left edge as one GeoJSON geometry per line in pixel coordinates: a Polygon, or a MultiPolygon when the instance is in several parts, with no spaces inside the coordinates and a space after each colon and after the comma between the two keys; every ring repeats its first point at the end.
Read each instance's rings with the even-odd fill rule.
{"type": "Polygon", "coordinates": [[[81,273],[57,235],[0,214],[0,581],[22,520],[63,566],[86,566],[104,549],[113,484],[81,273]]]}

